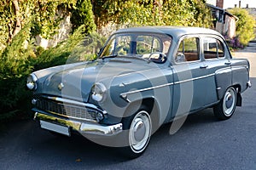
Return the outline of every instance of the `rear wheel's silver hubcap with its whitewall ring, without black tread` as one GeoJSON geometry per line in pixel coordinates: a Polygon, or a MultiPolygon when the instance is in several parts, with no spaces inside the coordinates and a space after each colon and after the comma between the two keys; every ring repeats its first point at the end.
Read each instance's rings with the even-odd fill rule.
{"type": "Polygon", "coordinates": [[[236,105],[236,92],[230,88],[224,95],[223,109],[225,116],[231,116],[236,105]]]}

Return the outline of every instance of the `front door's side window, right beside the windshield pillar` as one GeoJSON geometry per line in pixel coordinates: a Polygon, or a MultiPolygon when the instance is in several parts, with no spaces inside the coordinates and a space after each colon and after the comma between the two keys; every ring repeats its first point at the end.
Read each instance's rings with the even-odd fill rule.
{"type": "Polygon", "coordinates": [[[180,63],[199,59],[199,38],[185,37],[178,46],[175,61],[180,63]]]}

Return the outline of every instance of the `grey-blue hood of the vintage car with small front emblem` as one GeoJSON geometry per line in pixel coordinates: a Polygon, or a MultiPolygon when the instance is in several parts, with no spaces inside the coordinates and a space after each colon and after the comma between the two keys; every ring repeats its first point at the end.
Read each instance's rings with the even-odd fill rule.
{"type": "Polygon", "coordinates": [[[151,68],[146,61],[124,59],[99,59],[93,62],[61,65],[36,72],[39,83],[36,93],[87,102],[90,89],[95,82],[105,82],[105,86],[109,88],[115,77],[124,77],[151,68]],[[50,73],[45,76],[44,72],[50,73]]]}

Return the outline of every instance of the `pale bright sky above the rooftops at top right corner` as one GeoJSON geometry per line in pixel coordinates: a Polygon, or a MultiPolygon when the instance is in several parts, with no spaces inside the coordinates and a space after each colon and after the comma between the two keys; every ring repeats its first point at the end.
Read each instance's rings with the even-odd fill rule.
{"type": "MultiPolygon", "coordinates": [[[[216,0],[207,0],[207,3],[216,5],[216,0]]],[[[224,0],[224,8],[234,8],[235,4],[239,4],[239,0],[224,0]]],[[[241,8],[246,8],[247,4],[249,8],[256,8],[256,0],[241,0],[241,8]]]]}

